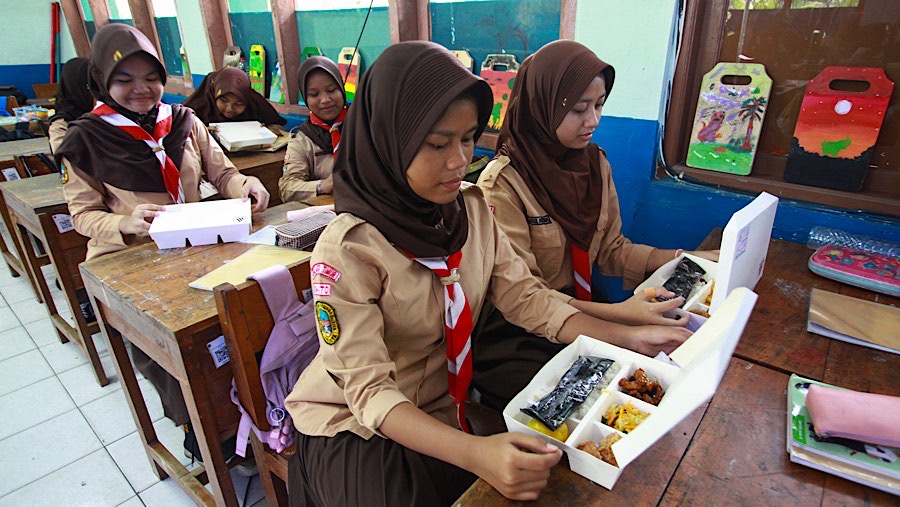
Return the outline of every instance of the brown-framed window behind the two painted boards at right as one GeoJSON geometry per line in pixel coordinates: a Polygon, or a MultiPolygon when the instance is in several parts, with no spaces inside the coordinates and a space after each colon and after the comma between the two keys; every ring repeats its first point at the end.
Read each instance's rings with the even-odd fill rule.
{"type": "MultiPolygon", "coordinates": [[[[686,178],[829,206],[900,215],[900,92],[894,90],[860,192],[786,183],[784,170],[806,85],[827,66],[878,67],[900,81],[896,0],[688,2],[666,119],[666,163],[686,178]],[[749,176],[685,165],[700,82],[716,62],[753,62],[772,78],[749,176]]],[[[660,176],[665,173],[660,171],[660,176]]]]}

